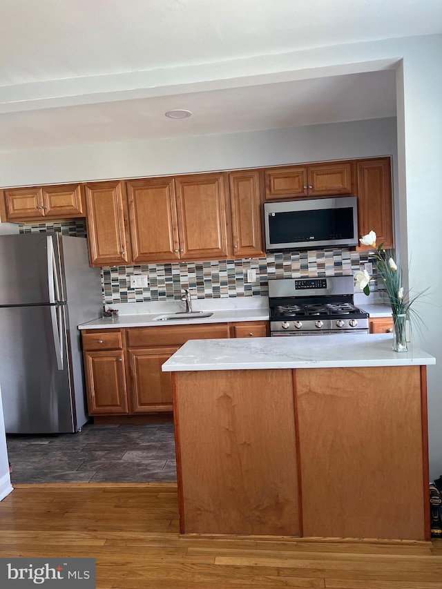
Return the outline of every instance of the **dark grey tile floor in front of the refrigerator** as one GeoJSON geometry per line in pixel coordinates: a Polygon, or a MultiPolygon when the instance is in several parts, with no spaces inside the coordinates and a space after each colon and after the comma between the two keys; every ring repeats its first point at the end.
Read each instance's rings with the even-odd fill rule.
{"type": "Polygon", "coordinates": [[[173,424],[90,425],[77,434],[6,436],[15,483],[174,482],[173,424]]]}

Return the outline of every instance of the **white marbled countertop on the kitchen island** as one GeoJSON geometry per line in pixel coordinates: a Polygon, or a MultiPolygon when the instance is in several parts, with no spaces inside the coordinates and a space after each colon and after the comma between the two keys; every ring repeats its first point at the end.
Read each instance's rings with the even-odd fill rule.
{"type": "Polygon", "coordinates": [[[162,365],[164,372],[430,365],[430,354],[409,346],[394,352],[391,334],[191,340],[162,365]]]}

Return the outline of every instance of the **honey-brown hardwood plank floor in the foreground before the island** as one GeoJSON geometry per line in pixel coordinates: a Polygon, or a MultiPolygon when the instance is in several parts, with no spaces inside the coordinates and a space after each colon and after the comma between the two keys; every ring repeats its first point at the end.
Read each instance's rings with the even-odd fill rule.
{"type": "Polygon", "coordinates": [[[181,538],[173,483],[17,485],[0,557],[94,557],[97,589],[442,587],[442,540],[181,538]]]}

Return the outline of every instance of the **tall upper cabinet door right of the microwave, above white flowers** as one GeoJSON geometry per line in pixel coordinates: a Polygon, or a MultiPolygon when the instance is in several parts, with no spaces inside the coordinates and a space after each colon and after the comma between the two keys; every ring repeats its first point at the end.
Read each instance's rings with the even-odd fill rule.
{"type": "MultiPolygon", "coordinates": [[[[390,157],[359,160],[358,173],[358,226],[360,235],[375,231],[376,244],[394,247],[392,176],[390,157]]],[[[361,249],[370,249],[361,246],[361,249]]]]}

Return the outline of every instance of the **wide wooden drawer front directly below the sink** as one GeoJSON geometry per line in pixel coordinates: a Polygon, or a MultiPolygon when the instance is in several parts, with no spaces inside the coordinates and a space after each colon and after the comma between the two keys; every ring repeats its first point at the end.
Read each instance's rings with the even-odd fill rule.
{"type": "Polygon", "coordinates": [[[174,327],[131,327],[127,330],[129,347],[180,346],[187,340],[229,338],[229,325],[176,325],[174,327]]]}

